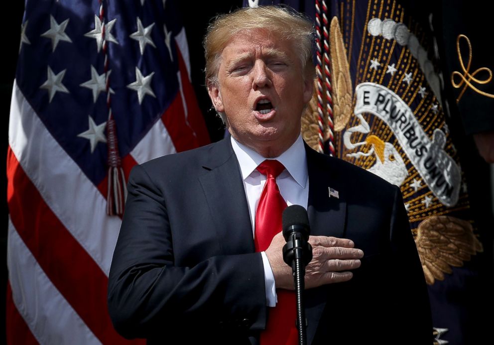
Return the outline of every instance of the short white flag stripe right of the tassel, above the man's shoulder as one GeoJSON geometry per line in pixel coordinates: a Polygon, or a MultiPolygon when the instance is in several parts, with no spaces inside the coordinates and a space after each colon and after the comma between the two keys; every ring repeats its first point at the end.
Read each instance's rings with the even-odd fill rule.
{"type": "Polygon", "coordinates": [[[134,149],[130,151],[130,155],[137,164],[142,164],[150,159],[176,152],[173,141],[163,121],[159,118],[134,149]]]}

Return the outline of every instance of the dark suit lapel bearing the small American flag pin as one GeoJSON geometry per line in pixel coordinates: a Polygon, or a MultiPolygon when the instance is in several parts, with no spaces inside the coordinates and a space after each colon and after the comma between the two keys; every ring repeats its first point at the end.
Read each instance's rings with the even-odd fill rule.
{"type": "MultiPolygon", "coordinates": [[[[338,176],[336,159],[322,156],[313,149],[306,147],[307,168],[309,174],[309,200],[307,213],[311,235],[344,237],[345,202],[344,178],[338,176]],[[339,198],[329,195],[329,188],[338,191],[339,198]]],[[[308,320],[307,340],[312,343],[319,320],[328,299],[327,286],[306,290],[305,313],[308,320]]],[[[334,296],[336,297],[336,296],[334,296]]]]}

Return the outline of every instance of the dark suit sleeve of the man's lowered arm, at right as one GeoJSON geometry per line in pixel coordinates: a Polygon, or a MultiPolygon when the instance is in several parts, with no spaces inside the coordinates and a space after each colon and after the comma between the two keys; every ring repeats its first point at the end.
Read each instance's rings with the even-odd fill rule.
{"type": "Polygon", "coordinates": [[[427,285],[417,247],[410,231],[401,191],[394,186],[395,196],[391,213],[391,274],[392,296],[397,317],[395,336],[406,339],[408,344],[432,344],[432,317],[427,285]]]}

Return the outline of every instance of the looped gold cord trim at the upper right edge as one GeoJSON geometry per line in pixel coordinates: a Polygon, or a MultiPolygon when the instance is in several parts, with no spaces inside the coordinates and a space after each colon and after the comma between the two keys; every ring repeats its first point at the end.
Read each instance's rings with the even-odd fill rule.
{"type": "Polygon", "coordinates": [[[472,74],[469,73],[470,72],[470,65],[472,64],[472,44],[470,43],[470,40],[468,39],[467,36],[458,35],[458,37],[456,39],[456,51],[458,52],[458,60],[460,61],[460,65],[462,67],[463,74],[461,74],[458,71],[454,71],[451,74],[451,84],[453,85],[453,87],[455,89],[459,89],[463,85],[463,83],[465,83],[465,86],[463,87],[462,91],[460,92],[460,95],[456,99],[456,103],[460,102],[460,99],[463,97],[463,94],[465,93],[467,86],[469,86],[472,90],[474,90],[478,94],[481,94],[483,96],[487,96],[490,98],[494,98],[494,95],[488,94],[487,92],[483,92],[483,91],[477,89],[475,86],[473,86],[472,83],[470,83],[470,81],[474,81],[475,83],[480,84],[480,85],[487,84],[493,79],[493,72],[487,67],[481,67],[481,68],[477,69],[474,73],[472,73],[472,74]],[[462,54],[460,52],[460,38],[464,38],[468,44],[467,68],[465,68],[465,64],[463,63],[462,54]],[[486,80],[479,80],[479,79],[474,77],[477,73],[479,73],[481,71],[486,71],[489,74],[489,77],[486,80]],[[461,79],[460,83],[458,83],[458,84],[455,83],[455,79],[454,79],[455,76],[460,76],[460,79],[461,79]]]}

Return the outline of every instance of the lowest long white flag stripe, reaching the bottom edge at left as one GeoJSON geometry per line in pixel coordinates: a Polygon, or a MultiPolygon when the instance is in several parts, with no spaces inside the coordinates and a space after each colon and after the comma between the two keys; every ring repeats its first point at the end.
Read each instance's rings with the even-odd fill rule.
{"type": "Polygon", "coordinates": [[[52,284],[8,220],[8,279],[17,311],[40,344],[101,344],[52,284]]]}

